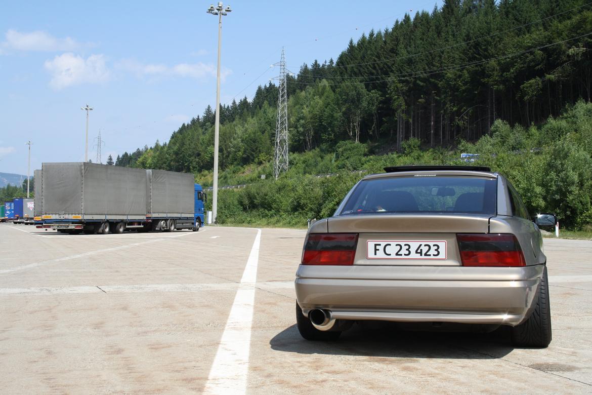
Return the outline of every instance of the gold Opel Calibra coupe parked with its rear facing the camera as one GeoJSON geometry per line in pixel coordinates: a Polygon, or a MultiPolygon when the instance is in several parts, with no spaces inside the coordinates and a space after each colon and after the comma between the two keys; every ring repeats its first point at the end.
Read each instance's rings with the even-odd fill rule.
{"type": "Polygon", "coordinates": [[[295,280],[298,330],[339,338],[360,320],[511,327],[551,342],[538,226],[504,176],[481,166],[399,166],[368,175],[310,227],[295,280]]]}

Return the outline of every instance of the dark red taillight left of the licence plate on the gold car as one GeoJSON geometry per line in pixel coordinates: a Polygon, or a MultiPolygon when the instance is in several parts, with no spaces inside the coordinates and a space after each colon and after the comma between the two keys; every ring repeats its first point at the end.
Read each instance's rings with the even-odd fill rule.
{"type": "Polygon", "coordinates": [[[303,265],[353,265],[357,233],[313,233],[304,243],[303,265]]]}

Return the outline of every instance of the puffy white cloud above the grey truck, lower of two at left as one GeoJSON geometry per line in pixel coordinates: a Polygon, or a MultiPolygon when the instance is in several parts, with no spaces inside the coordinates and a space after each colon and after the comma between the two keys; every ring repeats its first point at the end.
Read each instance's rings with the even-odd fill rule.
{"type": "Polygon", "coordinates": [[[73,53],[64,53],[46,60],[45,69],[52,75],[49,85],[54,89],[77,84],[97,84],[111,77],[106,58],[102,54],[91,55],[87,59],[73,53]]]}

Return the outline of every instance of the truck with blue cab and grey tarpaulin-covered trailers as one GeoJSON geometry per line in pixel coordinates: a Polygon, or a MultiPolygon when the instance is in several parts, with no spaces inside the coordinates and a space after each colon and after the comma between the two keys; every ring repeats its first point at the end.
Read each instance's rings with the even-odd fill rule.
{"type": "Polygon", "coordinates": [[[38,229],[123,233],[204,226],[206,195],[194,176],[97,163],[43,163],[36,171],[38,229]]]}

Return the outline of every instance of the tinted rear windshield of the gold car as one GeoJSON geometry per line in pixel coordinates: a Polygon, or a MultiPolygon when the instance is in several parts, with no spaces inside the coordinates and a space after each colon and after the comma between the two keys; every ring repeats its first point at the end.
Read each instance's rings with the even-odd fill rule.
{"type": "Polygon", "coordinates": [[[496,213],[497,179],[409,176],[366,179],[340,215],[368,213],[496,213]]]}

